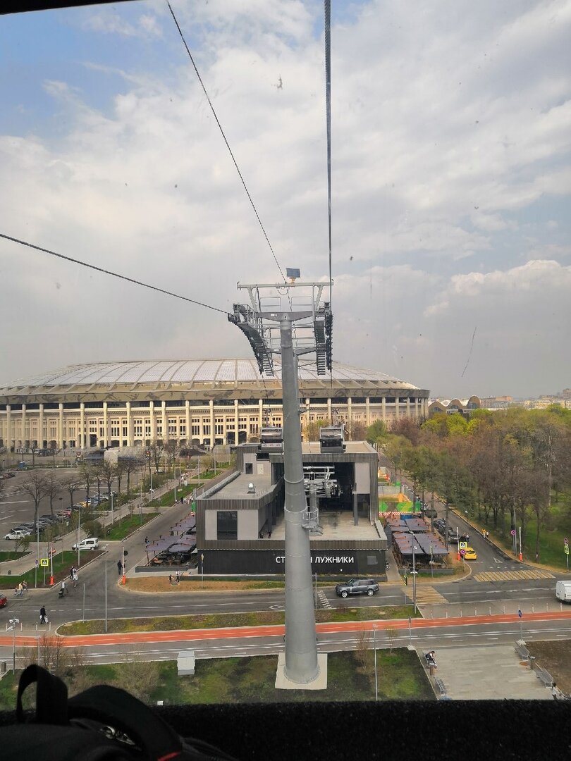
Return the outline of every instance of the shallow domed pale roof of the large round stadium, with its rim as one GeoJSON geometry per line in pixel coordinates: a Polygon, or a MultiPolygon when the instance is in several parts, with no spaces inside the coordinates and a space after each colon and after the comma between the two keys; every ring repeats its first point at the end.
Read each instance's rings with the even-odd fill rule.
{"type": "MultiPolygon", "coordinates": [[[[15,380],[0,388],[0,404],[117,402],[143,400],[281,400],[279,358],[275,376],[261,376],[252,359],[178,359],[71,365],[15,380]]],[[[428,398],[427,390],[374,370],[333,362],[331,377],[315,365],[299,367],[300,395],[356,399],[379,396],[428,398]]]]}

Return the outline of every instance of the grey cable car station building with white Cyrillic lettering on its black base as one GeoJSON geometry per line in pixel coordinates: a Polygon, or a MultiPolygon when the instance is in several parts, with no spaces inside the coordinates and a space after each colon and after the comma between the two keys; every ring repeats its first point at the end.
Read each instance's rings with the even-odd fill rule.
{"type": "MultiPolygon", "coordinates": [[[[331,430],[331,429],[329,429],[331,430]]],[[[327,431],[322,429],[327,436],[327,431]]],[[[388,548],[378,521],[378,455],[366,441],[303,444],[311,570],[384,573],[388,548]]],[[[196,548],[208,574],[283,574],[283,451],[241,444],[237,472],[196,499],[196,548]]]]}

